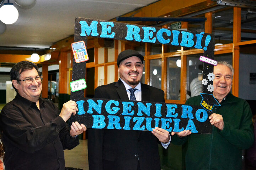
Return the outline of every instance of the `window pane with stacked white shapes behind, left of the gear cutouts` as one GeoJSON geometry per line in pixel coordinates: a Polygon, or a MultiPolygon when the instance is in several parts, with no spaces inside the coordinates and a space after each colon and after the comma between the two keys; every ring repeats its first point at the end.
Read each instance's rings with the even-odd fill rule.
{"type": "Polygon", "coordinates": [[[203,63],[199,57],[203,54],[187,56],[187,99],[202,92],[203,63]]]}

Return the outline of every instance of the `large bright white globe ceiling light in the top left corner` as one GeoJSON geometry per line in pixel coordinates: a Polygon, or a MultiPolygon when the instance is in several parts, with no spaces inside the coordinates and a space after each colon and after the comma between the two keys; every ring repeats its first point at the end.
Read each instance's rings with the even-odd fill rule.
{"type": "Polygon", "coordinates": [[[0,8],[0,20],[5,24],[13,24],[18,19],[18,10],[17,8],[9,2],[4,3],[0,8]]]}

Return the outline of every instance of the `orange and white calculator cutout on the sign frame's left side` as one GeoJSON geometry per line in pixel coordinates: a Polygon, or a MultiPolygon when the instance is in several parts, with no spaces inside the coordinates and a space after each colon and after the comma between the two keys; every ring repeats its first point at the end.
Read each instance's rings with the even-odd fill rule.
{"type": "Polygon", "coordinates": [[[71,47],[76,63],[81,63],[89,60],[84,41],[73,42],[71,44],[71,47]]]}

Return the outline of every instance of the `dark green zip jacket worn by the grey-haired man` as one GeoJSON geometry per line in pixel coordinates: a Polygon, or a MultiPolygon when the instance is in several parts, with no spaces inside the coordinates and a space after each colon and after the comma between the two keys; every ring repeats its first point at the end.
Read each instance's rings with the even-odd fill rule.
{"type": "MultiPolygon", "coordinates": [[[[188,105],[199,105],[202,97],[187,100],[188,105]]],[[[172,137],[172,143],[187,143],[186,170],[241,170],[242,149],[254,142],[252,112],[249,104],[228,94],[221,103],[214,106],[213,113],[221,114],[224,129],[213,126],[212,134],[191,134],[179,138],[172,137]]]]}

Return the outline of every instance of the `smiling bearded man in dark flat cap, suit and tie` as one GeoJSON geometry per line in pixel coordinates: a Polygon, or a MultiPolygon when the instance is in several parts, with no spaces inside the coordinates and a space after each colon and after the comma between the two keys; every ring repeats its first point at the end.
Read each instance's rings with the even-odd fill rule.
{"type": "MultiPolygon", "coordinates": [[[[144,57],[135,50],[125,50],[117,58],[120,79],[95,89],[95,98],[165,102],[164,91],[140,82],[144,57]]],[[[169,132],[88,130],[90,170],[160,170],[158,143],[170,143],[169,132]],[[159,142],[160,141],[160,142],[159,142]]]]}

